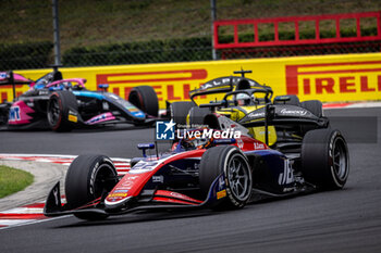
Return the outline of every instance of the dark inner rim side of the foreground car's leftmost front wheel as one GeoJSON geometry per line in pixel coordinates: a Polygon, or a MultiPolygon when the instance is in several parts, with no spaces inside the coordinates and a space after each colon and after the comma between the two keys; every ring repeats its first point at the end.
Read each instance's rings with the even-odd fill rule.
{"type": "Polygon", "coordinates": [[[110,164],[100,165],[95,176],[94,198],[97,199],[101,197],[103,191],[111,191],[116,181],[118,179],[113,167],[110,164]]]}

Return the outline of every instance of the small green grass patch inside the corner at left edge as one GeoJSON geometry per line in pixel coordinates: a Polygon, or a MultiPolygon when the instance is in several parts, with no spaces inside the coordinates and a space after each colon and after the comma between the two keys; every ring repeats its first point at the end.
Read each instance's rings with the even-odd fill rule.
{"type": "Polygon", "coordinates": [[[0,199],[24,190],[33,180],[30,173],[0,165],[0,199]]]}

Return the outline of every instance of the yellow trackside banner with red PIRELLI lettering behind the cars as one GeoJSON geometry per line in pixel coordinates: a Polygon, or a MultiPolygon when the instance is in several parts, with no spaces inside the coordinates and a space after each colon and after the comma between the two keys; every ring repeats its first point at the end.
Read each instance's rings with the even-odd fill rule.
{"type": "MultiPolygon", "coordinates": [[[[188,100],[189,90],[242,68],[253,71],[246,77],[272,87],[274,96],[297,94],[300,101],[318,99],[322,102],[381,100],[381,53],[62,67],[61,72],[64,78],[86,78],[90,90],[98,89],[99,84],[109,84],[110,92],[126,99],[134,86],[152,86],[160,107],[164,109],[165,100],[188,100]]],[[[50,69],[15,71],[34,80],[48,72],[50,69]]],[[[27,89],[20,86],[16,92],[27,89]]],[[[10,87],[0,87],[0,93],[1,98],[12,98],[10,87]]],[[[214,98],[221,97],[204,96],[197,98],[197,102],[206,103],[214,98]]]]}

